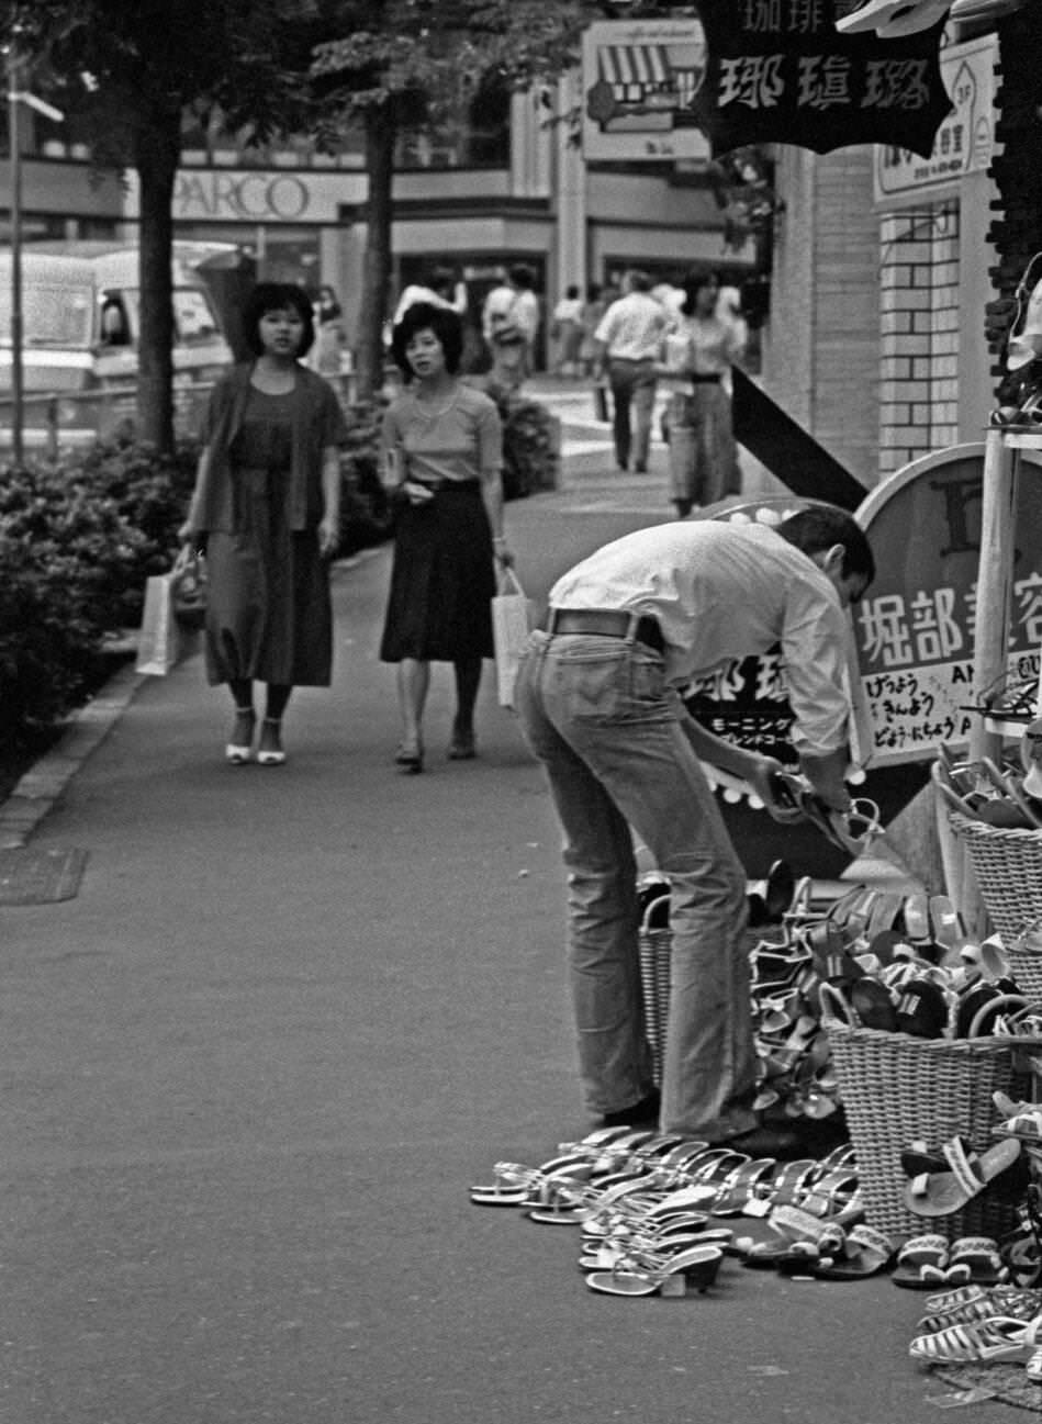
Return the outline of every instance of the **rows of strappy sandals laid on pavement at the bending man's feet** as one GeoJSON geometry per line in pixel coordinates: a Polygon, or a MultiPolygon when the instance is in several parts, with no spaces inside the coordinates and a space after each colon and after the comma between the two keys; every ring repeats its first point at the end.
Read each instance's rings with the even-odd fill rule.
{"type": "Polygon", "coordinates": [[[586,1287],[612,1296],[705,1293],[725,1257],[850,1280],[894,1256],[864,1225],[848,1145],[820,1162],[777,1162],[675,1134],[602,1128],[540,1166],[498,1162],[470,1200],[577,1227],[586,1287]],[[772,1239],[736,1239],[710,1222],[737,1216],[763,1219],[772,1239]]]}

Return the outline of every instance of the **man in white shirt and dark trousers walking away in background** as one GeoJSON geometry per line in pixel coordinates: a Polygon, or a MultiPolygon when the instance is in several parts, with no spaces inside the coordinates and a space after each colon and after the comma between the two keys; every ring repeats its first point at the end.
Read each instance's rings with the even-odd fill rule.
{"type": "Polygon", "coordinates": [[[669,316],[651,295],[646,272],[631,269],[622,279],[622,296],[612,302],[594,333],[594,375],[606,376],[612,392],[612,434],[619,470],[648,468],[655,363],[669,316]],[[632,423],[631,423],[632,412],[632,423]]]}

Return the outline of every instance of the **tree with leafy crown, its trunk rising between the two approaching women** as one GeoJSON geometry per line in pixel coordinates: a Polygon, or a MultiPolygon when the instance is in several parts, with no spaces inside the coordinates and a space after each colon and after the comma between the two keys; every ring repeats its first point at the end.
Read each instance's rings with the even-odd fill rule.
{"type": "Polygon", "coordinates": [[[367,244],[359,315],[357,380],[383,379],[381,328],[391,271],[391,184],[401,130],[458,111],[483,77],[527,88],[577,61],[578,40],[604,6],[589,0],[339,0],[316,50],[326,138],[360,124],[369,178],[367,244]]]}

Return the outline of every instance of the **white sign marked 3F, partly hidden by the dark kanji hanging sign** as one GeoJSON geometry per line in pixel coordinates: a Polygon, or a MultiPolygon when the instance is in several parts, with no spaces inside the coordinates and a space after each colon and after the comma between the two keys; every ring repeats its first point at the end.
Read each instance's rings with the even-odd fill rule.
{"type": "Polygon", "coordinates": [[[902,194],[918,198],[924,191],[988,168],[995,135],[996,61],[994,34],[941,51],[941,77],[952,111],[942,120],[927,157],[897,144],[875,150],[875,202],[902,194]]]}

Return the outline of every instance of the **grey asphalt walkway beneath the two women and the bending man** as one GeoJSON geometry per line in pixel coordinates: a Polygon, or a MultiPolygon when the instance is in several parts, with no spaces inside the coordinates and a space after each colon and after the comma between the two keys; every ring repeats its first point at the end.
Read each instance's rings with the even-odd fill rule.
{"type": "MultiPolygon", "coordinates": [[[[508,508],[535,597],[669,513],[661,450],[621,483],[577,439],[601,453],[508,508]]],[[[336,685],[295,701],[285,769],[223,765],[189,659],[33,837],[90,862],[0,910],[1,1424],[934,1424],[887,1279],[726,1262],[615,1300],[572,1229],[468,1203],[585,1129],[558,833],[491,676],[478,760],[444,760],[441,668],[428,772],[391,766],[387,571],[337,568],[336,685]]]]}

